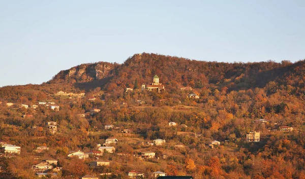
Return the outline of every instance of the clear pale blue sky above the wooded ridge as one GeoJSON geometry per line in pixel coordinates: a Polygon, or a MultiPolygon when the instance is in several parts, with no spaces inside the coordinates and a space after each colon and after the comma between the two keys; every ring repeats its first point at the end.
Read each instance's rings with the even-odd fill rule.
{"type": "Polygon", "coordinates": [[[305,1],[0,0],[0,87],[136,53],[203,61],[305,59],[305,1]]]}

